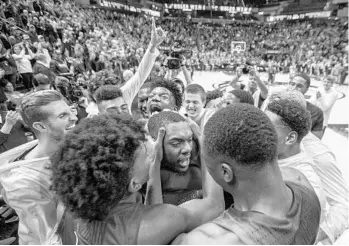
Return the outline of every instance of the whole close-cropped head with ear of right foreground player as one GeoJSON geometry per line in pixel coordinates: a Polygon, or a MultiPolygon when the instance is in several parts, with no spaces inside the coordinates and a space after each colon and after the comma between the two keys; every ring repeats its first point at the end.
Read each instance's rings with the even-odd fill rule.
{"type": "Polygon", "coordinates": [[[243,103],[217,111],[204,128],[203,157],[223,189],[254,182],[251,177],[277,166],[277,135],[269,118],[243,103]]]}

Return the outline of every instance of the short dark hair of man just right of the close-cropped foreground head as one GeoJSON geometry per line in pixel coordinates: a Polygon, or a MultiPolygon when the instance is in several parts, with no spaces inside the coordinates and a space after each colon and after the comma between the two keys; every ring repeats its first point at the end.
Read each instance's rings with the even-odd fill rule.
{"type": "Polygon", "coordinates": [[[287,99],[274,100],[268,104],[267,110],[278,115],[284,125],[297,132],[298,143],[309,133],[311,116],[300,103],[287,99]]]}

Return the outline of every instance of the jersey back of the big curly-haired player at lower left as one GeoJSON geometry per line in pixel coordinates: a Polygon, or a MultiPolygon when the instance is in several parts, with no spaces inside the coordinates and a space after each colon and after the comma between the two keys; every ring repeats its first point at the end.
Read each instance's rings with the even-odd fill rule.
{"type": "Polygon", "coordinates": [[[137,244],[138,231],[146,207],[141,203],[121,203],[103,221],[79,220],[77,244],[137,244]]]}

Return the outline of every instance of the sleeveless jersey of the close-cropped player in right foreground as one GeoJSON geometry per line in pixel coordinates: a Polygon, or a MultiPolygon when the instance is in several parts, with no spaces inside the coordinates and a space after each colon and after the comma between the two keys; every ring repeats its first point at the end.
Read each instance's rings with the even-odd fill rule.
{"type": "Polygon", "coordinates": [[[231,207],[213,223],[233,232],[246,245],[314,244],[320,223],[319,200],[306,187],[292,182],[286,185],[292,190],[293,201],[284,218],[231,207]]]}

